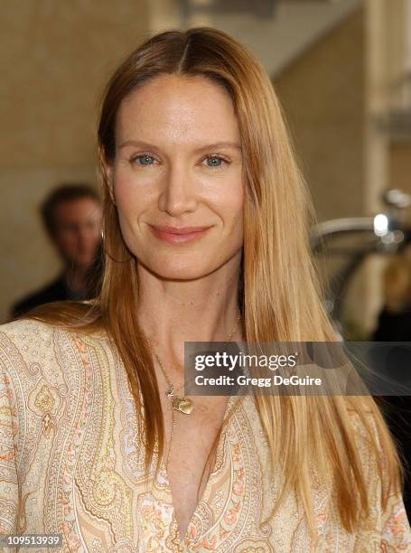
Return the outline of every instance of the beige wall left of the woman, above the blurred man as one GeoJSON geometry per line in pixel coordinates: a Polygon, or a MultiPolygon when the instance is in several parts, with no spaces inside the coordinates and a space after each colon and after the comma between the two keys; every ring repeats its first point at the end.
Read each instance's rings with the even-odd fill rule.
{"type": "Polygon", "coordinates": [[[96,122],[103,83],[145,38],[144,1],[0,4],[0,322],[9,305],[59,269],[37,216],[56,183],[96,183],[96,122]]]}

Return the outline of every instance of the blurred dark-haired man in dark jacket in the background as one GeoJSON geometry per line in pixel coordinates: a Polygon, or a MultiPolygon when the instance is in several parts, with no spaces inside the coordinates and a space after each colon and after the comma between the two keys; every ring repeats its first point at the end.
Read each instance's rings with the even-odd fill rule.
{"type": "Polygon", "coordinates": [[[97,293],[102,215],[98,192],[86,184],[61,185],[42,203],[41,213],[63,268],[51,283],[14,304],[12,317],[37,305],[85,300],[97,293]]]}

